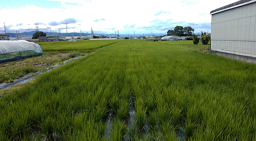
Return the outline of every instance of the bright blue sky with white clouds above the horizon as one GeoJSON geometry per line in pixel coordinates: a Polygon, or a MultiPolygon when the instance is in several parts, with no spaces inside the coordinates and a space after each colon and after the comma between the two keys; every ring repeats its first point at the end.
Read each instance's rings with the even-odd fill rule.
{"type": "Polygon", "coordinates": [[[1,0],[0,33],[34,31],[165,34],[175,26],[211,32],[210,12],[238,0],[1,0]]]}

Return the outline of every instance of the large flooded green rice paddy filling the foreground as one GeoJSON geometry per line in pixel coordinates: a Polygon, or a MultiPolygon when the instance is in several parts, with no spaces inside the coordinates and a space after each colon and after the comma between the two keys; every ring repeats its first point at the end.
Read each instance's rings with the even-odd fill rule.
{"type": "Polygon", "coordinates": [[[256,140],[256,65],[178,44],[118,42],[0,100],[0,140],[256,140]]]}

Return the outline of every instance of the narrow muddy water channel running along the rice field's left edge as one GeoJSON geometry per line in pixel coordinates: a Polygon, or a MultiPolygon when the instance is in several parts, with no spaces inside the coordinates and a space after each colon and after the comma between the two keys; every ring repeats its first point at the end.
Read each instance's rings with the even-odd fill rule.
{"type": "MultiPolygon", "coordinates": [[[[89,54],[89,53],[88,53],[88,54],[89,54]]],[[[27,81],[30,81],[30,80],[32,80],[32,79],[33,79],[35,76],[37,76],[37,75],[40,75],[40,74],[42,74],[42,73],[44,73],[44,72],[49,72],[49,71],[51,71],[52,69],[57,68],[58,66],[61,66],[61,65],[63,65],[63,64],[66,64],[68,61],[78,59],[78,58],[83,57],[83,56],[86,56],[86,55],[88,55],[88,54],[85,54],[85,55],[82,55],[82,56],[77,56],[77,57],[74,57],[74,58],[65,60],[65,61],[62,62],[62,64],[56,64],[56,65],[47,67],[47,68],[45,68],[45,69],[43,69],[43,70],[41,70],[41,71],[38,71],[38,72],[35,72],[35,73],[32,73],[32,74],[26,75],[26,76],[21,77],[21,78],[18,78],[18,79],[15,79],[13,82],[2,83],[2,84],[0,84],[0,90],[2,90],[2,89],[8,89],[8,88],[10,88],[10,87],[12,87],[12,86],[16,86],[16,85],[18,85],[18,84],[22,84],[22,83],[25,83],[25,82],[27,82],[27,81]]]]}

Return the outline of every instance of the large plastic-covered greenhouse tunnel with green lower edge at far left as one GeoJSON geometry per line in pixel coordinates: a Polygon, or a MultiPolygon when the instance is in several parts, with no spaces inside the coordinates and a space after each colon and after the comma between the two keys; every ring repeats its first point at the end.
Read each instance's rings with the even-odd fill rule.
{"type": "Polygon", "coordinates": [[[33,42],[0,41],[0,63],[42,54],[42,48],[33,42]]]}

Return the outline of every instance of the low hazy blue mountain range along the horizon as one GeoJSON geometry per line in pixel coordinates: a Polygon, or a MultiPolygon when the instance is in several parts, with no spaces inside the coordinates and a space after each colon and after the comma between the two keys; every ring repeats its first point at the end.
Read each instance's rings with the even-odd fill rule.
{"type": "MultiPolygon", "coordinates": [[[[32,37],[33,34],[35,33],[36,31],[30,31],[30,32],[22,32],[22,33],[6,33],[7,35],[9,35],[9,37],[16,37],[18,35],[20,36],[25,36],[25,37],[32,37]]],[[[46,36],[51,36],[51,33],[50,32],[44,32],[44,33],[47,33],[46,36]]],[[[87,34],[84,33],[84,36],[86,36],[87,34]]],[[[91,35],[90,33],[88,33],[88,35],[91,35]]],[[[95,34],[95,35],[99,35],[99,34],[95,34]]],[[[101,34],[100,34],[101,35],[101,34]]],[[[107,36],[115,36],[115,34],[103,34],[103,35],[107,35],[107,36]]],[[[117,34],[116,34],[117,35],[117,34]]],[[[135,36],[142,36],[143,34],[135,34],[135,36]]],[[[150,34],[151,35],[151,34],[150,34]]],[[[153,34],[153,36],[160,36],[160,35],[163,35],[163,34],[153,34]]],[[[59,33],[57,32],[52,32],[52,36],[59,36],[59,33]]],[[[61,36],[83,36],[82,33],[61,33],[61,36]]],[[[128,34],[120,34],[120,37],[127,37],[128,34]]],[[[129,34],[129,36],[133,36],[133,34],[129,34]]],[[[147,34],[145,34],[145,36],[149,36],[147,34]]]]}

